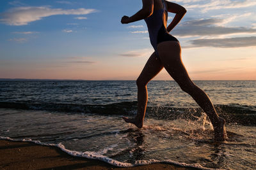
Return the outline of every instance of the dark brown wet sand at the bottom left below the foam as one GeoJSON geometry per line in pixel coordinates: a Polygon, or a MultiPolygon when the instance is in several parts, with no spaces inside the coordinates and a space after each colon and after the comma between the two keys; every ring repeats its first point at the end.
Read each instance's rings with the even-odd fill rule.
{"type": "Polygon", "coordinates": [[[60,148],[0,140],[0,169],[195,169],[171,164],[120,168],[99,160],[72,157],[60,148]]]}

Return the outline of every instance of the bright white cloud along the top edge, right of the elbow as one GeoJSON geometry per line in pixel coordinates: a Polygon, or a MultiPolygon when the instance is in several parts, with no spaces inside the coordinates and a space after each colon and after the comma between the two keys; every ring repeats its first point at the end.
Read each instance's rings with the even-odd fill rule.
{"type": "MultiPolygon", "coordinates": [[[[194,1],[191,1],[194,2],[194,1]]],[[[231,0],[208,0],[208,1],[196,1],[198,4],[186,4],[186,8],[194,9],[199,8],[202,12],[209,10],[220,10],[220,9],[232,9],[232,8],[246,8],[255,6],[256,1],[244,0],[244,1],[231,1],[231,0]],[[205,3],[206,2],[206,3],[205,3]]],[[[190,3],[190,2],[187,2],[190,3]]]]}

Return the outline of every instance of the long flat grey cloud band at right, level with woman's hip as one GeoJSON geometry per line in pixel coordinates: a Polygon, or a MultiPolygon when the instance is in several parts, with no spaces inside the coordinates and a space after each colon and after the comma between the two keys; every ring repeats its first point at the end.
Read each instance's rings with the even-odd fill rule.
{"type": "Polygon", "coordinates": [[[246,46],[256,46],[256,36],[239,38],[216,38],[216,39],[194,39],[191,45],[184,48],[211,46],[217,48],[237,48],[246,46]]]}

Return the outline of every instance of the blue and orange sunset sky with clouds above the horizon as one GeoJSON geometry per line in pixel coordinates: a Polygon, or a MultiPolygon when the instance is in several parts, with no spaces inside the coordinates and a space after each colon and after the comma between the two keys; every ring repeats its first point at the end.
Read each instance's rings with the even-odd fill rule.
{"type": "MultiPolygon", "coordinates": [[[[255,0],[176,0],[193,80],[256,80],[255,0]]],[[[136,80],[154,52],[141,0],[0,1],[0,78],[136,80]]],[[[173,18],[169,13],[168,22],[173,18]]],[[[170,80],[162,71],[154,80],[170,80]]]]}

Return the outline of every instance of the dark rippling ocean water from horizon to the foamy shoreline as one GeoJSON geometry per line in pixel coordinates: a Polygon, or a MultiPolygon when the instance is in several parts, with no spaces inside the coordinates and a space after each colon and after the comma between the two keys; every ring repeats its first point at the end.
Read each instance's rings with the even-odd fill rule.
{"type": "Polygon", "coordinates": [[[175,81],[150,81],[142,129],[122,120],[136,115],[135,81],[0,81],[0,136],[61,143],[122,165],[255,169],[256,81],[195,83],[226,119],[227,141],[214,143],[209,119],[175,81]]]}

